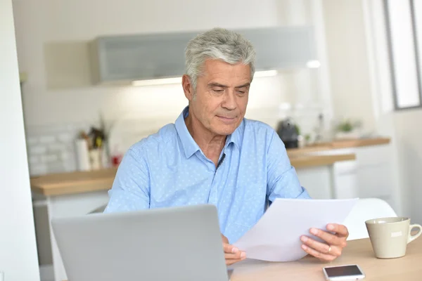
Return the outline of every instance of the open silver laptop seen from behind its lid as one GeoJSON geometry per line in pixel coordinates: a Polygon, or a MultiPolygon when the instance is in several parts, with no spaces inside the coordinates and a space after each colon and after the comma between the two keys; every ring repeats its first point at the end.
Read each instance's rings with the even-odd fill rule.
{"type": "Polygon", "coordinates": [[[51,220],[69,281],[229,280],[213,205],[51,220]]]}

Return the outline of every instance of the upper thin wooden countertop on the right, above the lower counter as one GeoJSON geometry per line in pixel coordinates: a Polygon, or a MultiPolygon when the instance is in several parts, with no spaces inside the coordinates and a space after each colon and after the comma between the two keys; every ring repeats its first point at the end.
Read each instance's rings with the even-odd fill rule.
{"type": "Polygon", "coordinates": [[[386,145],[390,143],[390,138],[361,138],[350,140],[338,140],[330,143],[318,143],[316,145],[305,146],[304,148],[290,148],[288,149],[289,157],[295,155],[304,155],[307,153],[324,151],[324,150],[337,150],[342,148],[360,148],[372,145],[386,145]]]}

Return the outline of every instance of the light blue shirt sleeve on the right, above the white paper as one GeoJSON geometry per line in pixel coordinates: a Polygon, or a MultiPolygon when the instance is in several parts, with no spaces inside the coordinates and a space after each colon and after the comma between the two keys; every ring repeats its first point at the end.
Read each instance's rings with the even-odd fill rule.
{"type": "Polygon", "coordinates": [[[273,131],[267,149],[267,197],[270,202],[276,198],[310,198],[300,185],[286,147],[276,131],[273,131]]]}

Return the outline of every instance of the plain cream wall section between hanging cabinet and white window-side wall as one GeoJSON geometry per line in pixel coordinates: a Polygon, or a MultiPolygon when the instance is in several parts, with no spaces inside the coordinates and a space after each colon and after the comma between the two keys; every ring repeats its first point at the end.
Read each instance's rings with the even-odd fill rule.
{"type": "Polygon", "coordinates": [[[360,0],[323,0],[334,117],[360,119],[376,129],[360,0]]]}

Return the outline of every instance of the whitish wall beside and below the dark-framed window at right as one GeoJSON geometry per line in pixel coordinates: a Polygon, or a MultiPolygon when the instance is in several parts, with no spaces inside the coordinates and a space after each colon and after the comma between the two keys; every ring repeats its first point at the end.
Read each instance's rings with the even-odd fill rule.
{"type": "Polygon", "coordinates": [[[376,128],[392,136],[394,178],[398,187],[397,197],[402,201],[402,215],[410,216],[414,223],[422,223],[419,207],[422,201],[422,130],[418,125],[422,110],[394,110],[383,0],[363,3],[372,98],[376,104],[373,107],[376,128]]]}

